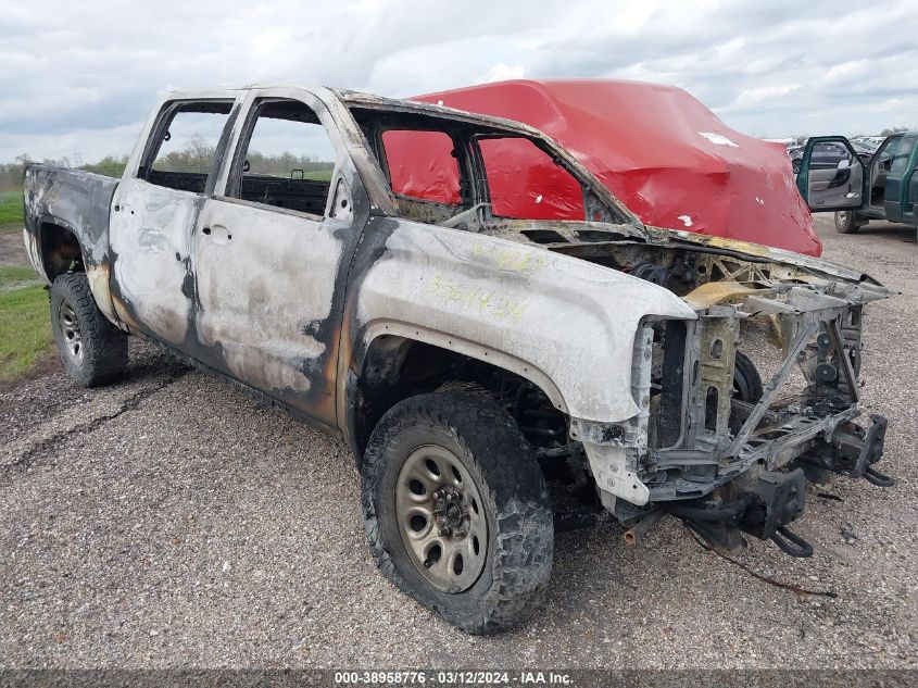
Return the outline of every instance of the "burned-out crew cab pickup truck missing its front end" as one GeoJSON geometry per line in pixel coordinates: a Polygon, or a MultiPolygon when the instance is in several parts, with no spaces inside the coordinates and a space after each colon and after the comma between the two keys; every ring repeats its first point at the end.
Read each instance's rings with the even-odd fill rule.
{"type": "Polygon", "coordinates": [[[643,226],[525,125],[326,88],[178,92],[121,180],[32,165],[25,204],[75,380],[118,378],[137,335],[340,437],[378,566],[469,633],[538,609],[549,485],[636,530],[668,513],[808,555],[789,529],[807,475],[891,484],[886,422],[858,410],[863,309],[889,290],[643,226]],[[449,148],[443,198],[393,193],[404,136],[449,148]],[[494,214],[482,150],[507,139],[580,189],[582,220],[494,214]]]}

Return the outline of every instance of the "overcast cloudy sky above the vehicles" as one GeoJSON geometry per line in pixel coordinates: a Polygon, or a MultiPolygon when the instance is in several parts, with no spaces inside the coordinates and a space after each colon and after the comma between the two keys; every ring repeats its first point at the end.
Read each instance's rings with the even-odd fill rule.
{"type": "Polygon", "coordinates": [[[763,137],[918,127],[916,0],[0,2],[0,162],[127,152],[174,88],[403,97],[516,77],[680,86],[763,137]]]}

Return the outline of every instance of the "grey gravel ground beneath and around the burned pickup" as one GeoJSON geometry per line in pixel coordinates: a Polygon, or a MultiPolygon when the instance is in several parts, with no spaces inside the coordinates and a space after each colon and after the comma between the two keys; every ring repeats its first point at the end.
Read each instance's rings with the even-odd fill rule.
{"type": "Polygon", "coordinates": [[[374,568],[342,445],[135,346],[122,385],[55,367],[0,391],[0,665],[918,666],[918,247],[819,226],[827,258],[903,291],[868,311],[864,356],[898,484],[812,489],[795,529],[817,554],[740,561],[838,597],[671,520],[637,547],[608,523],[557,537],[533,623],[466,637],[374,568]]]}

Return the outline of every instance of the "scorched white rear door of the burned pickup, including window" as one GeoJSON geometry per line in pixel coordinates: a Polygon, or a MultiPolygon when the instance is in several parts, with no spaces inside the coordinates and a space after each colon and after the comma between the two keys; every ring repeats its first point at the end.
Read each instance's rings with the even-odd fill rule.
{"type": "Polygon", "coordinates": [[[122,322],[188,353],[191,228],[234,98],[166,102],[112,199],[112,296],[122,322]]]}

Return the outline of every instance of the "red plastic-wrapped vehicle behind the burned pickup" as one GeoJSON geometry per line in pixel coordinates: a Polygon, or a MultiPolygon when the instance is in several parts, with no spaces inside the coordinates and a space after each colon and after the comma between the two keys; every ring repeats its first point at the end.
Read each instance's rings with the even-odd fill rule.
{"type": "MultiPolygon", "coordinates": [[[[514,80],[414,100],[542,129],[649,225],[808,255],[822,250],[784,147],[734,132],[680,88],[607,79],[514,80]]],[[[538,174],[541,163],[507,157],[501,164],[506,170],[489,170],[489,178],[520,167],[538,174]]],[[[556,177],[556,171],[546,167],[544,175],[556,177]]],[[[541,196],[516,198],[513,214],[571,220],[579,202],[564,198],[570,192],[559,189],[549,217],[541,196]]]]}

